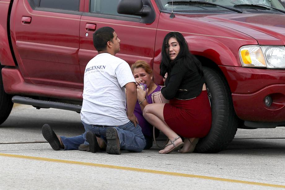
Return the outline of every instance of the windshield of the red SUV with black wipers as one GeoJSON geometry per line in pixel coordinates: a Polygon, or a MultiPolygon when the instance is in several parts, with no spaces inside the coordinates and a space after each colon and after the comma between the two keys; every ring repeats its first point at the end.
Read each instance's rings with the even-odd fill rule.
{"type": "Polygon", "coordinates": [[[156,0],[160,11],[176,13],[233,13],[234,10],[254,12],[264,11],[265,13],[280,13],[276,9],[285,11],[284,0],[156,0]],[[214,5],[216,4],[216,5],[214,5]],[[236,6],[236,5],[251,5],[251,6],[236,6]],[[260,5],[260,6],[252,6],[260,5]],[[264,5],[264,6],[262,6],[264,5]],[[263,8],[263,7],[267,8],[263,8]],[[272,8],[268,8],[272,7],[272,8]]]}

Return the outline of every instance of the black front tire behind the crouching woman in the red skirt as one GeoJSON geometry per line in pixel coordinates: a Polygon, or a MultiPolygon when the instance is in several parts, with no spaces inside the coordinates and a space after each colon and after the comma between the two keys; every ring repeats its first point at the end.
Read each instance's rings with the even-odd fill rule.
{"type": "Polygon", "coordinates": [[[203,67],[203,72],[212,109],[212,127],[208,135],[199,140],[195,152],[215,153],[234,139],[238,118],[225,78],[212,68],[203,67]]]}

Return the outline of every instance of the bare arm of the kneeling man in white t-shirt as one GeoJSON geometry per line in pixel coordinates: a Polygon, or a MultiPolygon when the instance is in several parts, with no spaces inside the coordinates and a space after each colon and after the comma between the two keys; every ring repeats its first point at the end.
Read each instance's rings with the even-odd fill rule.
{"type": "Polygon", "coordinates": [[[137,102],[137,87],[134,82],[129,82],[125,85],[127,99],[127,116],[134,126],[137,126],[138,119],[134,115],[134,107],[137,102]]]}

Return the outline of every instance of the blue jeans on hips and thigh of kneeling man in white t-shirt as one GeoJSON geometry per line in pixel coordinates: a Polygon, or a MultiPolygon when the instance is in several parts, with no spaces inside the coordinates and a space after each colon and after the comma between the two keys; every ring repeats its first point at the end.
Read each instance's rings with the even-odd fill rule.
{"type": "MultiPolygon", "coordinates": [[[[121,126],[88,125],[84,122],[82,122],[82,124],[84,125],[85,133],[92,131],[95,135],[99,135],[103,138],[106,138],[106,130],[108,127],[114,127],[117,130],[120,148],[122,149],[131,152],[142,152],[143,148],[146,146],[142,128],[139,125],[135,127],[134,123],[131,121],[121,126]]],[[[88,142],[85,140],[84,144],[88,145],[88,142]]]]}

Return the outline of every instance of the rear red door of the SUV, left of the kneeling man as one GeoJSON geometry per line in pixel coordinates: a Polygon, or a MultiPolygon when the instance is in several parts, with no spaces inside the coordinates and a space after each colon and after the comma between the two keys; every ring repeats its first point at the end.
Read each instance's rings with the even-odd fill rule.
{"type": "Polygon", "coordinates": [[[27,82],[83,88],[78,61],[84,0],[19,0],[11,13],[13,48],[27,82]]]}

